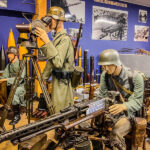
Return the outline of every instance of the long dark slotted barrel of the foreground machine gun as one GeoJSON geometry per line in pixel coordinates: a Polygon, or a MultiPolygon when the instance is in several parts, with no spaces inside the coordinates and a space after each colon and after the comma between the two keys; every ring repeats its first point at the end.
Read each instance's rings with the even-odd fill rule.
{"type": "MultiPolygon", "coordinates": [[[[39,135],[42,133],[50,131],[55,128],[56,123],[62,123],[66,119],[72,120],[75,119],[78,114],[83,114],[86,112],[88,109],[87,104],[83,104],[80,106],[72,106],[67,112],[63,113],[58,113],[54,114],[50,117],[47,117],[43,120],[37,121],[35,123],[28,124],[26,126],[22,126],[20,128],[17,128],[15,130],[9,130],[7,132],[1,133],[0,134],[0,143],[6,140],[11,140],[11,141],[17,141],[19,142],[20,139],[29,139],[33,137],[35,134],[39,135]],[[79,108],[80,107],[80,108],[79,108]],[[78,111],[80,110],[80,112],[78,111]],[[32,135],[33,134],[33,135],[32,135]]],[[[15,143],[15,144],[16,144],[15,143]]]]}

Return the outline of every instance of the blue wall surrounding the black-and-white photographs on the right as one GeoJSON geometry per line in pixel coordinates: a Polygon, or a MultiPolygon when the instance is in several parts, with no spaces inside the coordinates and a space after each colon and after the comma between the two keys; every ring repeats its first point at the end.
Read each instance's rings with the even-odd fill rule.
{"type": "MultiPolygon", "coordinates": [[[[116,1],[116,0],[115,0],[116,1]]],[[[120,2],[120,1],[118,1],[120,2]]],[[[116,49],[118,51],[122,49],[131,49],[126,53],[135,53],[137,48],[142,48],[145,50],[150,50],[150,38],[148,42],[134,41],[134,30],[135,25],[150,26],[150,8],[127,4],[127,8],[112,6],[107,4],[102,4],[94,2],[93,0],[85,1],[85,24],[83,24],[83,38],[80,40],[79,45],[81,45],[82,50],[88,50],[88,57],[95,57],[95,68],[98,67],[98,56],[99,53],[105,49],[116,49]],[[128,28],[127,28],[127,40],[92,40],[92,8],[93,6],[106,7],[111,9],[123,10],[128,12],[128,28]],[[138,21],[139,9],[146,10],[148,12],[147,22],[141,23],[138,21]]],[[[79,28],[79,24],[66,23],[66,28],[79,28]]],[[[89,66],[88,66],[89,68],[89,66]]],[[[96,70],[96,69],[95,69],[96,70]]]]}

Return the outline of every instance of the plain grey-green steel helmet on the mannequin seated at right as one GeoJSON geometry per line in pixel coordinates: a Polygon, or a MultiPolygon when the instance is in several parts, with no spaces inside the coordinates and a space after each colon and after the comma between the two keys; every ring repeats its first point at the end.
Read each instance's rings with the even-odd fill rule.
{"type": "Polygon", "coordinates": [[[106,49],[99,55],[98,65],[121,65],[119,53],[114,49],[106,49]]]}

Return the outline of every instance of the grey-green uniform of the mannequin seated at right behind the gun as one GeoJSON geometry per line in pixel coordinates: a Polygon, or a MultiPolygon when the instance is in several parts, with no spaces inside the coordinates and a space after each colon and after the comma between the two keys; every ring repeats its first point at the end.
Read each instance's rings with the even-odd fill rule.
{"type": "Polygon", "coordinates": [[[127,94],[125,91],[118,87],[119,92],[126,100],[124,104],[127,107],[127,114],[125,118],[121,118],[117,121],[111,132],[111,136],[112,139],[122,144],[123,150],[125,150],[126,147],[123,137],[131,131],[132,127],[129,118],[133,117],[135,115],[135,112],[142,107],[144,93],[143,77],[138,72],[133,72],[133,85],[130,85],[130,73],[131,70],[124,66],[122,66],[122,71],[119,76],[111,76],[108,75],[106,71],[103,71],[101,75],[100,89],[98,94],[98,97],[106,97],[108,91],[116,91],[115,85],[111,77],[114,78],[117,82],[119,82],[123,87],[125,87],[128,90],[131,90],[131,87],[133,87],[132,95],[127,94]]]}

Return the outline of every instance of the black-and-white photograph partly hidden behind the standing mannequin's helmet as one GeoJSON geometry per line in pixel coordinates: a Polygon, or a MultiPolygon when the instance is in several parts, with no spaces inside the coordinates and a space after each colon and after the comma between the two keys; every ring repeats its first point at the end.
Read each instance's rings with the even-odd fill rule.
{"type": "Polygon", "coordinates": [[[51,0],[51,6],[65,10],[66,21],[85,23],[85,2],[81,0],[51,0]],[[79,11],[80,10],[80,11],[79,11]]]}

